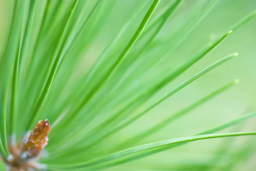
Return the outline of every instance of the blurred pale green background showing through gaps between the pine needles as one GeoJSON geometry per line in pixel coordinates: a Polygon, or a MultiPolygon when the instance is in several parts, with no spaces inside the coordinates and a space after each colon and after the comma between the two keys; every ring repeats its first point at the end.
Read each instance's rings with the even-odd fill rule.
{"type": "MultiPolygon", "coordinates": [[[[107,1],[110,2],[111,0],[105,0],[105,3],[108,3],[107,1]]],[[[204,9],[207,1],[209,0],[183,0],[171,19],[166,23],[166,26],[164,26],[160,34],[157,35],[156,40],[169,42],[170,44],[177,42],[177,40],[184,33],[183,29],[187,29],[191,26],[193,20],[200,15],[201,10],[198,9],[204,9]]],[[[97,29],[99,29],[97,35],[92,36],[91,40],[89,41],[89,46],[87,46],[87,48],[84,50],[84,58],[76,67],[77,75],[84,73],[90,68],[102,50],[108,45],[113,37],[116,36],[122,25],[141,2],[142,0],[115,1],[111,13],[109,16],[104,18],[103,21],[101,21],[102,24],[100,27],[97,27],[97,29]]],[[[161,10],[165,8],[166,4],[169,4],[170,2],[171,0],[162,0],[153,17],[159,14],[161,10]]],[[[93,3],[89,4],[92,5],[93,3]]],[[[103,7],[104,6],[101,8],[103,7]]],[[[1,40],[6,38],[6,31],[9,26],[8,16],[10,8],[11,7],[9,5],[6,5],[5,0],[0,1],[0,23],[2,23],[0,28],[1,40]]],[[[40,7],[38,6],[37,8],[40,7]]],[[[88,8],[90,8],[90,6],[88,6],[88,8]]],[[[129,28],[129,32],[127,32],[126,36],[122,38],[123,42],[128,42],[131,35],[134,34],[134,31],[137,29],[137,26],[145,14],[146,9],[148,8],[145,8],[144,11],[141,12],[140,17],[138,17],[136,22],[134,22],[133,27],[129,28]]],[[[139,70],[139,68],[136,68],[137,70],[134,69],[132,71],[133,74],[137,76],[141,82],[148,82],[148,84],[152,84],[151,77],[155,77],[157,73],[164,73],[167,70],[173,70],[183,61],[186,61],[189,56],[195,52],[198,52],[202,46],[214,41],[219,35],[230,31],[230,28],[237,21],[241,20],[244,16],[255,9],[255,0],[220,0],[215,8],[207,15],[207,17],[205,17],[204,20],[202,20],[201,23],[189,34],[186,40],[181,43],[177,49],[169,52],[166,55],[166,58],[164,58],[164,60],[157,65],[157,67],[152,70],[148,70],[146,75],[138,74],[137,70],[139,70]]],[[[233,52],[239,52],[238,57],[192,82],[192,84],[189,84],[189,86],[185,87],[177,94],[155,107],[137,122],[134,122],[129,127],[102,142],[102,149],[114,148],[117,144],[119,144],[119,142],[125,141],[140,131],[151,128],[152,125],[164,120],[178,110],[183,109],[189,104],[192,104],[192,102],[200,99],[206,94],[236,78],[239,78],[240,83],[232,89],[222,93],[221,95],[208,101],[206,104],[203,104],[201,107],[198,107],[196,110],[193,110],[186,116],[175,120],[175,122],[172,122],[172,124],[168,125],[163,130],[148,136],[142,142],[132,146],[164,139],[191,136],[202,130],[215,127],[216,125],[220,125],[235,119],[244,113],[255,110],[255,30],[256,18],[253,18],[248,23],[241,26],[238,30],[232,32],[223,43],[221,43],[202,60],[198,61],[195,65],[189,68],[189,70],[184,72],[177,79],[172,81],[172,83],[170,83],[168,86],[164,87],[163,90],[144,104],[141,109],[146,107],[148,104],[151,104],[151,102],[160,98],[163,96],[163,94],[169,92],[177,85],[194,75],[196,72],[199,72],[204,67],[207,67],[209,64],[212,64],[218,59],[233,52]],[[106,143],[108,146],[106,146],[106,143]]],[[[87,35],[90,35],[90,33],[93,33],[93,31],[95,30],[93,30],[92,27],[92,29],[87,32],[87,35]]],[[[3,47],[4,41],[0,41],[0,43],[0,46],[3,47]]],[[[83,45],[81,44],[80,46],[83,45]]],[[[166,44],[165,46],[168,49],[166,44]]],[[[113,54],[115,53],[118,52],[113,52],[113,54]]],[[[159,52],[152,52],[151,54],[145,54],[145,56],[148,55],[148,59],[154,58],[157,61],[157,53],[159,52]]],[[[145,57],[145,64],[146,59],[147,57],[145,57]]],[[[65,67],[68,68],[68,65],[65,67]]],[[[76,74],[73,75],[74,78],[76,78],[76,74]]],[[[65,94],[63,96],[65,96],[65,94]]],[[[43,112],[49,111],[47,108],[45,108],[43,109],[43,112]]],[[[96,122],[99,122],[101,118],[97,119],[98,120],[96,120],[96,122]]],[[[237,131],[254,130],[255,122],[256,119],[251,119],[250,122],[242,125],[241,129],[237,131]]],[[[233,129],[224,130],[223,132],[228,132],[231,130],[233,129]]],[[[237,141],[231,144],[232,150],[229,151],[230,156],[226,156],[219,164],[225,165],[230,158],[234,157],[232,156],[232,152],[238,148],[241,148],[241,146],[245,144],[247,138],[249,137],[236,138],[237,141]]],[[[190,170],[189,168],[192,168],[193,165],[204,165],[204,163],[209,161],[223,140],[224,139],[209,139],[191,142],[188,145],[180,146],[159,154],[154,154],[133,162],[128,162],[126,164],[116,166],[116,168],[110,168],[109,170],[171,170],[172,168],[179,168],[179,165],[184,167],[188,165],[188,170],[190,170]]],[[[254,138],[254,141],[255,140],[256,139],[254,138]]],[[[253,171],[256,166],[254,162],[255,159],[256,153],[249,161],[241,161],[241,163],[238,163],[238,166],[240,167],[237,167],[237,171],[253,171]]]]}

